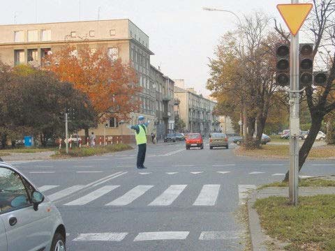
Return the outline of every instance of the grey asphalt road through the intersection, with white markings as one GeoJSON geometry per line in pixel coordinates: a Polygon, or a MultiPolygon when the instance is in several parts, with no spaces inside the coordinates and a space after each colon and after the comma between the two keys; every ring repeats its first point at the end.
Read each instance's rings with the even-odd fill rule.
{"type": "MultiPolygon", "coordinates": [[[[245,192],[280,181],[288,160],[235,157],[232,148],[149,145],[140,170],[135,150],[13,165],[61,211],[68,250],[243,250],[245,192]]],[[[334,170],[335,161],[310,161],[301,175],[334,170]]]]}

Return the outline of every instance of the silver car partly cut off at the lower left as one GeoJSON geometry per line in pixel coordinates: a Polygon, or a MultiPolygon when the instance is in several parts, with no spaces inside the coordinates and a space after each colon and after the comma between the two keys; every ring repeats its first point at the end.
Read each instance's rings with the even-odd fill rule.
{"type": "Polygon", "coordinates": [[[0,162],[0,250],[65,251],[61,214],[26,176],[0,162]]]}

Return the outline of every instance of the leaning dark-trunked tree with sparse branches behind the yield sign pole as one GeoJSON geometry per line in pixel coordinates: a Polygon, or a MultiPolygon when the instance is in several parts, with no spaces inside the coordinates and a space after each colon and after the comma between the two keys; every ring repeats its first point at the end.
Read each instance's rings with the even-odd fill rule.
{"type": "MultiPolygon", "coordinates": [[[[311,127],[309,133],[299,150],[299,171],[301,170],[308,153],[311,151],[316,136],[327,114],[335,110],[335,2],[333,0],[313,0],[313,10],[306,20],[304,32],[313,40],[314,62],[321,62],[328,70],[327,84],[325,86],[306,86],[304,95],[308,110],[311,114],[311,127]]],[[[278,33],[288,40],[288,33],[275,23],[278,33]]],[[[314,65],[315,65],[314,63],[314,65]]],[[[285,175],[288,181],[289,173],[285,175]]]]}

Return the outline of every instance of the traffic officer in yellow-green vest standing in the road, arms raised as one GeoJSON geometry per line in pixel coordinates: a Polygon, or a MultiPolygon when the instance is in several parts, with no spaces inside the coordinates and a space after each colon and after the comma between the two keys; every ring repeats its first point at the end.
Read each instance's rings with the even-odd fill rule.
{"type": "Polygon", "coordinates": [[[141,115],[138,117],[138,125],[128,126],[128,128],[135,130],[135,139],[136,144],[138,146],[137,163],[136,163],[138,169],[147,168],[144,167],[144,160],[145,160],[145,153],[147,151],[147,127],[149,123],[150,121],[144,123],[144,116],[141,115]]]}

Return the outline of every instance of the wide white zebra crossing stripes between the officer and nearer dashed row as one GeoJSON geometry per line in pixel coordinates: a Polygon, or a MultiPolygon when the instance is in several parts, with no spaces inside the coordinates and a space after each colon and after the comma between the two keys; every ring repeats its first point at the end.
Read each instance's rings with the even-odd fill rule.
{"type": "MultiPolygon", "coordinates": [[[[140,201],[144,195],[146,199],[154,195],[147,206],[172,206],[180,196],[191,198],[192,206],[216,206],[219,195],[224,192],[221,189],[222,186],[222,184],[204,184],[201,185],[201,190],[196,189],[198,192],[195,192],[191,185],[186,184],[168,185],[163,188],[165,190],[162,190],[160,185],[136,185],[126,190],[123,190],[121,185],[94,186],[91,189],[87,189],[85,185],[73,185],[68,188],[61,188],[59,185],[43,185],[39,190],[45,193],[51,201],[58,201],[61,204],[64,202],[59,201],[65,201],[64,206],[84,206],[98,199],[102,198],[101,200],[105,201],[111,197],[112,201],[107,204],[104,202],[104,206],[128,206],[135,201],[140,201]],[[123,192],[120,194],[120,191],[123,192]],[[191,195],[189,195],[190,192],[191,195]]],[[[240,190],[239,187],[240,185],[238,190],[240,190]]],[[[241,195],[241,198],[243,199],[244,196],[241,195]]]]}

